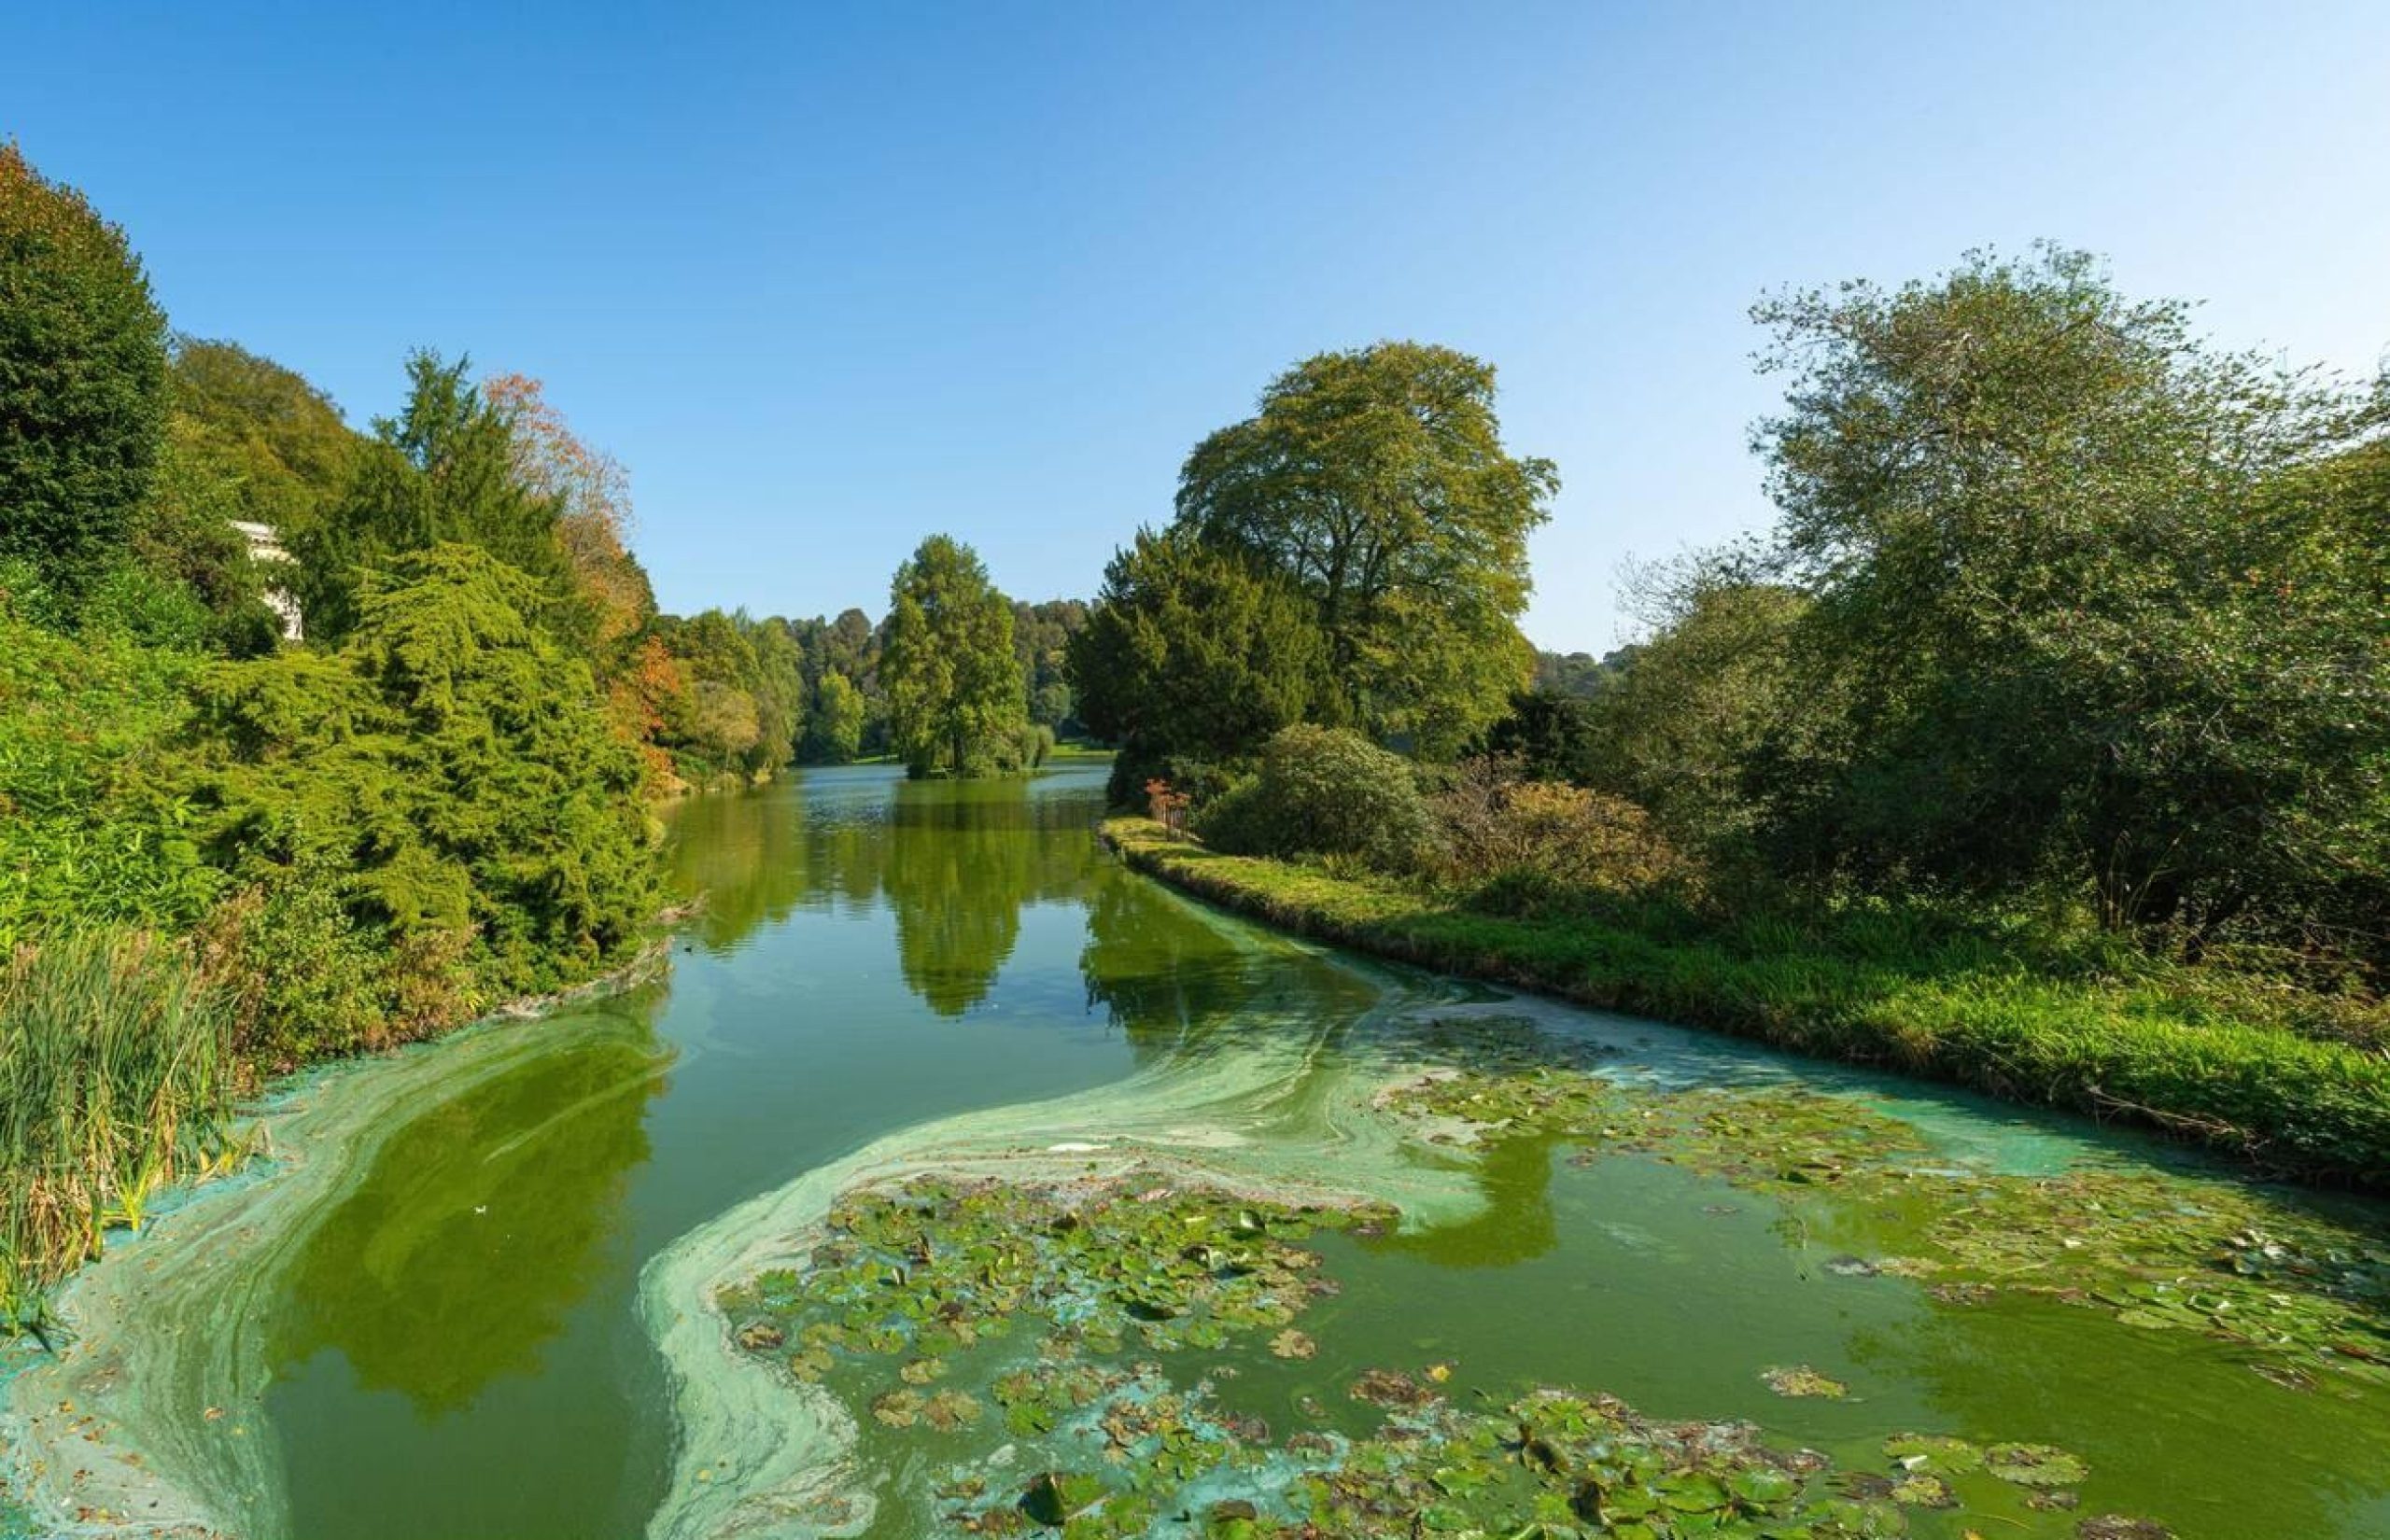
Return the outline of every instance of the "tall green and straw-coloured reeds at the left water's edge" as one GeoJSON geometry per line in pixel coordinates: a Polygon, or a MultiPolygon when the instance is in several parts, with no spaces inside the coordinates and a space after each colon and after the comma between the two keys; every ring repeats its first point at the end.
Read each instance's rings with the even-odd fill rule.
{"type": "Polygon", "coordinates": [[[177,1175],[227,1163],[232,1010],[184,948],[129,931],[24,945],[0,972],[0,1335],[141,1227],[177,1175]]]}

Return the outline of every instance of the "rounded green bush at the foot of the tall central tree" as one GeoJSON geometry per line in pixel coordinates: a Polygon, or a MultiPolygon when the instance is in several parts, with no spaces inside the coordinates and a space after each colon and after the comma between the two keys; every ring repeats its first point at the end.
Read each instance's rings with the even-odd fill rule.
{"type": "Polygon", "coordinates": [[[1358,855],[1381,869],[1432,857],[1436,824],[1410,762],[1348,728],[1286,728],[1262,769],[1197,814],[1205,843],[1236,855],[1358,855]]]}

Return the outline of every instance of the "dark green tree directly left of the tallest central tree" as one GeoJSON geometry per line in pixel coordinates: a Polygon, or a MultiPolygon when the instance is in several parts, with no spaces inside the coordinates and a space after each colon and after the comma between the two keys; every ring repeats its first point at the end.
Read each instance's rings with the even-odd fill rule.
{"type": "Polygon", "coordinates": [[[1173,757],[1236,759],[1334,707],[1326,640],[1295,583],[1188,530],[1138,530],[1104,568],[1066,678],[1080,721],[1121,745],[1130,802],[1173,757]]]}

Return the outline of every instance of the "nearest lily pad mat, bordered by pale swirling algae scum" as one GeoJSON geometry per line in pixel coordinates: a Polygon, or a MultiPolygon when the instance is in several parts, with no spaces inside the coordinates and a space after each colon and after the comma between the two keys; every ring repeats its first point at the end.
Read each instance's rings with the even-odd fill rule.
{"type": "MultiPolygon", "coordinates": [[[[1448,1361],[1326,1368],[1343,1409],[1303,1392],[1298,1425],[1271,1430],[1224,1394],[1236,1356],[1326,1361],[1295,1325],[1334,1294],[1305,1242],[1389,1220],[1150,1177],[913,1179],[848,1194],[803,1268],[717,1304],[746,1354],[868,1411],[896,1468],[927,1461],[934,1502],[908,1533],[1857,1540],[1910,1535],[1924,1511],[2067,1507],[2089,1476],[2063,1449],[1941,1435],[1893,1437],[1876,1468],[1847,1468],[1747,1423],[1663,1423],[1565,1387],[1456,1387],[1448,1361]]],[[[1764,1378],[1781,1394],[1845,1394],[1807,1366],[1764,1378]]]]}

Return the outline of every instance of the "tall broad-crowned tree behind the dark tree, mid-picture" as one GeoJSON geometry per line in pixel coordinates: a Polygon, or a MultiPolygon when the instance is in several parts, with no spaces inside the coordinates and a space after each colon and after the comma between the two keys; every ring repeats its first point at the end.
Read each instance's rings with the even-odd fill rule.
{"type": "Polygon", "coordinates": [[[1527,535],[1556,489],[1503,449],[1491,365],[1384,341],[1298,363],[1197,444],[1178,523],[1293,578],[1346,714],[1441,757],[1527,685],[1527,535]]]}

